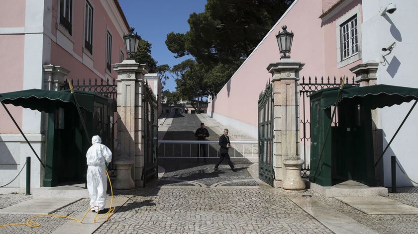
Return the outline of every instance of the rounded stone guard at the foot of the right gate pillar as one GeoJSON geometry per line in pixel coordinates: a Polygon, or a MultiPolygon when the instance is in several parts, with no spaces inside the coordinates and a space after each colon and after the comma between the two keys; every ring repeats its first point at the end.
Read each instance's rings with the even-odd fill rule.
{"type": "Polygon", "coordinates": [[[302,180],[301,169],[304,160],[300,158],[285,159],[286,177],[282,181],[282,190],[285,192],[305,192],[305,182],[302,180]]]}

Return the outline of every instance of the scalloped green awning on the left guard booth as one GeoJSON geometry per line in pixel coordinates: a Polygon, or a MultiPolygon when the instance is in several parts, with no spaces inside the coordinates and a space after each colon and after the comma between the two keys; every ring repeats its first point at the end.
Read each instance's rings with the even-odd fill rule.
{"type": "MultiPolygon", "coordinates": [[[[94,111],[94,102],[107,103],[107,98],[94,92],[75,91],[77,101],[81,108],[94,111]]],[[[51,112],[58,107],[75,105],[74,97],[70,90],[49,91],[42,89],[27,89],[15,92],[0,93],[0,101],[4,104],[12,104],[32,110],[51,112]]]]}

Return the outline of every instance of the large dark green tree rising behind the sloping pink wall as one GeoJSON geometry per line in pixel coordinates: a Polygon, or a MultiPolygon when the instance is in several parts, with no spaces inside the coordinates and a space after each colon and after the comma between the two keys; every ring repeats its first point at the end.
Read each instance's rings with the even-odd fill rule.
{"type": "Polygon", "coordinates": [[[216,95],[252,53],[293,0],[208,0],[205,12],[189,17],[190,30],[167,35],[176,58],[177,90],[188,100],[216,95]]]}

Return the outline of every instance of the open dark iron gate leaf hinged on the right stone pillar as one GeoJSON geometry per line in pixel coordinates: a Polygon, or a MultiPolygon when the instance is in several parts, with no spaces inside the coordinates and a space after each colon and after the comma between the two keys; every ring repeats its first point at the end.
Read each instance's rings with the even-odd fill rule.
{"type": "Polygon", "coordinates": [[[258,177],[273,186],[273,85],[268,83],[258,98],[258,177]]]}

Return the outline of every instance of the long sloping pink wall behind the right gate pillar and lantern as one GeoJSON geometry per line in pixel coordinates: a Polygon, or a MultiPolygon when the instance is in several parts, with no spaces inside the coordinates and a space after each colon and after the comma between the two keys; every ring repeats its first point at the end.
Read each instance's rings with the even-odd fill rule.
{"type": "MultiPolygon", "coordinates": [[[[321,3],[322,0],[297,1],[213,101],[209,103],[208,113],[214,112],[257,126],[258,95],[272,77],[266,70],[267,66],[280,60],[275,35],[282,31],[282,25],[287,25],[288,30],[295,34],[291,58],[305,63],[303,70],[300,72],[301,78],[351,75],[348,69],[355,64],[341,69],[336,68],[335,22],[322,25],[322,20],[318,18],[322,13],[321,3]]],[[[361,63],[361,61],[357,63],[361,63]]]]}

